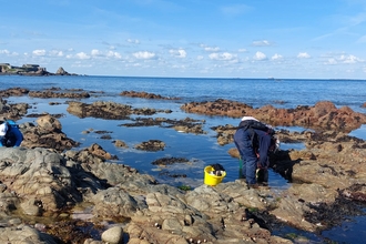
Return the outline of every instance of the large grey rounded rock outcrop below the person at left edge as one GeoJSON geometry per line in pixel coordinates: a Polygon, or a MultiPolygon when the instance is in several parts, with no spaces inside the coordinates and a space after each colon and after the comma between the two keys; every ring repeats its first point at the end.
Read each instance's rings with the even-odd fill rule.
{"type": "MultiPolygon", "coordinates": [[[[38,199],[42,212],[55,211],[81,199],[70,171],[57,153],[44,149],[0,148],[0,181],[24,199],[38,199]]],[[[23,210],[37,213],[27,205],[32,205],[32,201],[24,202],[23,210]]]]}

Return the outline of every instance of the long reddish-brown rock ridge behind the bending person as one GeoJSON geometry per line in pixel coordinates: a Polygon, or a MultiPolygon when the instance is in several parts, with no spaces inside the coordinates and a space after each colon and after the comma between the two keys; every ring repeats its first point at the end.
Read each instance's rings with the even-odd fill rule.
{"type": "Polygon", "coordinates": [[[271,125],[298,125],[311,129],[349,132],[366,123],[366,115],[347,106],[337,109],[332,102],[322,101],[314,106],[298,105],[296,109],[276,109],[265,105],[254,109],[247,104],[218,99],[214,102],[191,102],[181,106],[190,113],[255,116],[271,125]]]}

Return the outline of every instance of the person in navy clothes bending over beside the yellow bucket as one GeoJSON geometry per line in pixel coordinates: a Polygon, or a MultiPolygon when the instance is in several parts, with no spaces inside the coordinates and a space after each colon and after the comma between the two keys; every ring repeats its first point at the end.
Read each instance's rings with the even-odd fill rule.
{"type": "Polygon", "coordinates": [[[244,116],[234,134],[234,143],[243,162],[242,175],[250,187],[268,183],[268,152],[279,143],[273,134],[271,126],[253,116],[244,116]]]}

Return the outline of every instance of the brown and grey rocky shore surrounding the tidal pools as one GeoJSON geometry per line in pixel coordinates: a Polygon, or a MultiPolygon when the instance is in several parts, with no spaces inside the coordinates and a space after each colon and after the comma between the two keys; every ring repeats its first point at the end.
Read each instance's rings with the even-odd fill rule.
{"type": "MultiPolygon", "coordinates": [[[[79,142],[62,132],[58,114],[28,114],[29,104],[9,104],[6,99],[70,98],[69,113],[108,120],[153,115],[155,109],[75,101],[78,96],[88,98],[84,91],[14,88],[0,91],[0,95],[1,116],[37,116],[35,124],[20,124],[24,135],[20,148],[0,148],[1,243],[306,243],[299,236],[276,236],[272,230],[289,225],[317,233],[339,224],[345,215],[359,214],[359,204],[366,201],[366,143],[347,135],[366,123],[366,115],[349,108],[337,109],[327,101],[288,110],[272,105],[253,109],[227,100],[183,104],[181,109],[187,113],[234,118],[251,114],[272,125],[312,129],[277,132],[283,142],[306,145],[304,150],[282,150],[271,155],[271,166],[293,182],[287,190],[250,189],[236,180],[183,191],[118,163],[96,143],[73,150],[79,142]]],[[[205,133],[205,122],[192,119],[131,121],[123,126],[154,124],[205,133]]],[[[217,133],[218,144],[233,142],[234,125],[212,130],[217,133]]],[[[119,144],[123,146],[123,142],[119,144]]],[[[164,143],[151,139],[136,146],[155,151],[164,143]]],[[[238,155],[234,148],[227,153],[238,155]]]]}

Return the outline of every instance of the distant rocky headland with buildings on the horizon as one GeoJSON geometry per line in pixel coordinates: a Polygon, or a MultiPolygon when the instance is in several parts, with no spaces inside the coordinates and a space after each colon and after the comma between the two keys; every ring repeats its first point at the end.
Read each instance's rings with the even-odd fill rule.
{"type": "Polygon", "coordinates": [[[23,64],[22,67],[14,67],[10,63],[0,63],[0,75],[28,75],[28,77],[47,77],[47,75],[79,75],[67,72],[60,67],[55,73],[47,71],[45,68],[39,64],[23,64]]]}

